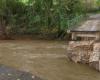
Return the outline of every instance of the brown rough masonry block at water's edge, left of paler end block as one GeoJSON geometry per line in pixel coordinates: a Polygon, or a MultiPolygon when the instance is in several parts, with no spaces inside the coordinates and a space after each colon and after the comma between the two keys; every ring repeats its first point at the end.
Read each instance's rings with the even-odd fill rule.
{"type": "Polygon", "coordinates": [[[90,54],[93,50],[91,42],[69,42],[68,57],[75,63],[89,63],[90,54]]]}

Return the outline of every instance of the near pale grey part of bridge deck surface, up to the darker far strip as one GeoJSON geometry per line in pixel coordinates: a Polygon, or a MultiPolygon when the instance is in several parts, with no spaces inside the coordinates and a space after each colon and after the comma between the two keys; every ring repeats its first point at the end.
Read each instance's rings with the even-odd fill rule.
{"type": "Polygon", "coordinates": [[[71,32],[100,32],[100,20],[88,20],[82,26],[70,29],[71,32]]]}

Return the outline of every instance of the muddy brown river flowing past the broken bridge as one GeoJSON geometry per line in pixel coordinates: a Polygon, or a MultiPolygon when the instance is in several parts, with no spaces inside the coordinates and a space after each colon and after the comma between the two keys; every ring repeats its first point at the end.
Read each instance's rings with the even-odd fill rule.
{"type": "Polygon", "coordinates": [[[100,80],[100,73],[66,57],[65,41],[0,41],[0,64],[44,80],[100,80]]]}

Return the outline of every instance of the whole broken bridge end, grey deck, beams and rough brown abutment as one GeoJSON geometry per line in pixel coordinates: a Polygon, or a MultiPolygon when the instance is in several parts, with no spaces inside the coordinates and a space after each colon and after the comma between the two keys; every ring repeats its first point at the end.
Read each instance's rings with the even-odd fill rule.
{"type": "Polygon", "coordinates": [[[89,64],[100,71],[100,18],[87,20],[82,26],[70,29],[68,58],[75,63],[89,64]]]}

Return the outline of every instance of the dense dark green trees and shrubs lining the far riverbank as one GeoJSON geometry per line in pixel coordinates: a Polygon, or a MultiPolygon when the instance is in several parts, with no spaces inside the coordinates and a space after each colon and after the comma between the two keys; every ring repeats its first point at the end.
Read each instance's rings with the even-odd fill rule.
{"type": "Polygon", "coordinates": [[[86,13],[82,0],[0,0],[0,30],[5,35],[63,37],[86,13]]]}

